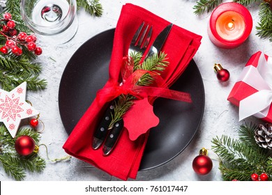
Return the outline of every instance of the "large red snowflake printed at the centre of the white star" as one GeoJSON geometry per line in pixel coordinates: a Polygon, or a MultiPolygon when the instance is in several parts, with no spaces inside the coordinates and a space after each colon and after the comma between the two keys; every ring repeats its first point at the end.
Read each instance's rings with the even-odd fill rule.
{"type": "Polygon", "coordinates": [[[9,118],[12,118],[14,121],[16,120],[16,116],[20,117],[20,112],[24,111],[24,109],[22,109],[20,106],[22,105],[19,104],[20,98],[15,98],[15,99],[11,99],[8,97],[8,95],[6,95],[6,100],[5,102],[3,102],[3,104],[0,104],[0,110],[3,111],[2,114],[2,119],[8,117],[7,120],[9,120],[9,118]]]}

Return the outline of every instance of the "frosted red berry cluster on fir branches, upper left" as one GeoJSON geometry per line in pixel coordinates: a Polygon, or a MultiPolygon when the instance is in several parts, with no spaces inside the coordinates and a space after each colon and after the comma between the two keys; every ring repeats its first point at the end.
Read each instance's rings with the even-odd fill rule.
{"type": "Polygon", "coordinates": [[[6,43],[0,47],[1,53],[8,54],[11,51],[13,54],[20,56],[22,55],[22,47],[27,47],[29,51],[34,52],[36,55],[42,54],[42,48],[36,46],[37,38],[35,35],[28,35],[25,32],[17,33],[15,21],[12,20],[10,13],[3,13],[2,17],[0,34],[6,37],[6,43]]]}

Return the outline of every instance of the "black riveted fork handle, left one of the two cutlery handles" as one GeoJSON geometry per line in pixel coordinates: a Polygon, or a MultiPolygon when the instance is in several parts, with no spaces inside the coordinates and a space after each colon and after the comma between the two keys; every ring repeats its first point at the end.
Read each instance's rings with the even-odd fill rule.
{"type": "Polygon", "coordinates": [[[109,103],[109,106],[107,107],[107,110],[103,115],[103,118],[101,118],[100,123],[93,134],[92,143],[93,149],[98,149],[102,145],[105,138],[107,137],[107,134],[109,132],[108,130],[109,124],[112,122],[113,114],[114,114],[114,101],[109,103]]]}

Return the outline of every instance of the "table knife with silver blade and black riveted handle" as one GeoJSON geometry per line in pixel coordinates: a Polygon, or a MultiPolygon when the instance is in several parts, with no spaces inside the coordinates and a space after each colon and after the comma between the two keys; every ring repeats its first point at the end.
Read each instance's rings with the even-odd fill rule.
{"type": "MultiPolygon", "coordinates": [[[[151,45],[149,52],[146,54],[146,58],[152,56],[153,54],[159,54],[160,50],[162,49],[163,45],[165,44],[165,40],[167,39],[169,32],[172,29],[173,24],[169,24],[168,26],[163,29],[156,37],[151,45]]],[[[103,145],[103,155],[109,155],[116,146],[116,142],[118,141],[121,132],[123,129],[123,119],[119,120],[117,123],[114,124],[112,130],[109,130],[109,136],[107,136],[105,143],[103,145]]]]}

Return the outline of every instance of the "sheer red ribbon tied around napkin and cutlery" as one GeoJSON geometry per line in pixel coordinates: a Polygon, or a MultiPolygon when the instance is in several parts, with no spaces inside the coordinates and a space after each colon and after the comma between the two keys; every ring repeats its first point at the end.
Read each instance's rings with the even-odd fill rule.
{"type": "Polygon", "coordinates": [[[174,91],[167,88],[167,84],[165,83],[163,78],[158,75],[158,72],[153,72],[149,70],[135,70],[133,72],[133,66],[134,65],[132,58],[123,58],[123,65],[121,67],[121,83],[109,79],[104,88],[100,89],[96,94],[98,102],[100,102],[100,98],[102,97],[103,100],[109,102],[110,100],[114,100],[114,98],[117,98],[121,94],[130,94],[137,99],[143,99],[147,97],[160,97],[172,100],[179,100],[182,102],[192,102],[189,93],[174,91]],[[139,79],[141,79],[141,77],[145,74],[149,74],[153,78],[154,84],[152,84],[152,86],[137,85],[139,79]]]}

